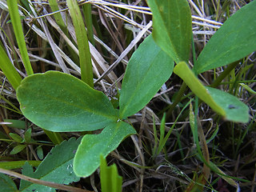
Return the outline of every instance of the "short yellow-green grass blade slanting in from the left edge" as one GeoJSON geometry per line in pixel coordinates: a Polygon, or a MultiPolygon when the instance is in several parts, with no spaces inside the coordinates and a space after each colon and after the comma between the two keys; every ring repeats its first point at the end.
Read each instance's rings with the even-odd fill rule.
{"type": "Polygon", "coordinates": [[[2,48],[2,45],[0,45],[0,61],[0,68],[2,72],[6,75],[6,78],[8,78],[10,84],[14,87],[14,90],[17,90],[18,86],[22,82],[22,78],[10,62],[10,59],[6,54],[6,51],[2,48]]]}

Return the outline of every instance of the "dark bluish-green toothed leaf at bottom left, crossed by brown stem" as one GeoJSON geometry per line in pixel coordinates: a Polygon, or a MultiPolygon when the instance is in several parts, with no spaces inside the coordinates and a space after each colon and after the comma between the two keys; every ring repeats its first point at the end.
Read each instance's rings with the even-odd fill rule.
{"type": "MultiPolygon", "coordinates": [[[[78,182],[78,178],[73,171],[74,151],[77,150],[81,139],[70,138],[60,145],[55,146],[46,158],[38,166],[34,172],[32,166],[28,163],[23,166],[22,174],[31,178],[38,178],[48,182],[57,182],[61,184],[69,184],[70,182],[78,182]]],[[[21,191],[55,191],[49,186],[42,186],[32,182],[22,180],[21,191]]]]}

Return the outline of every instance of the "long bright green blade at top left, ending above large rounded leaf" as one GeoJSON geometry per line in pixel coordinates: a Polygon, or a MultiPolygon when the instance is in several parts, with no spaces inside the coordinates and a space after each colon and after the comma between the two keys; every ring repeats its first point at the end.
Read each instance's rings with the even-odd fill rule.
{"type": "Polygon", "coordinates": [[[11,23],[14,27],[14,34],[18,43],[19,51],[22,55],[22,62],[26,69],[26,74],[34,74],[30,64],[30,58],[26,50],[26,42],[22,30],[21,18],[18,13],[18,2],[17,0],[7,0],[7,5],[9,7],[11,23]]]}

